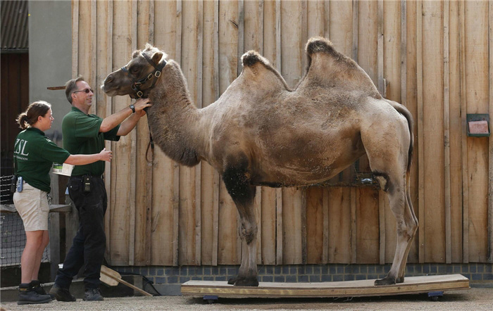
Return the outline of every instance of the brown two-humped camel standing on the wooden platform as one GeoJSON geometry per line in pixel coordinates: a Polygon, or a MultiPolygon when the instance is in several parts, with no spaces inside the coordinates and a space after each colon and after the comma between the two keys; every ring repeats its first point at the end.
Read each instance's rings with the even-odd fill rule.
{"type": "Polygon", "coordinates": [[[319,184],[368,155],[373,176],[397,220],[397,247],[386,277],[404,281],[418,219],[409,195],[413,118],[382,98],[366,72],[322,37],[306,44],[308,66],[296,88],[255,51],[217,101],[192,103],[180,65],[150,44],[132,53],[101,85],[108,96],[147,97],[152,137],[168,157],[187,166],[201,160],[223,178],[241,224],[242,260],[235,286],[258,286],[254,214],[256,186],[319,184]]]}

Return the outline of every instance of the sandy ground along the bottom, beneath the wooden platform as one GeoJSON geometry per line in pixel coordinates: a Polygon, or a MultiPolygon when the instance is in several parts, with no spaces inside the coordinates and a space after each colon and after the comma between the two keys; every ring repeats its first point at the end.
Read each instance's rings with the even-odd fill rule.
{"type": "MultiPolygon", "coordinates": [[[[437,302],[423,295],[373,298],[225,299],[208,304],[183,296],[106,298],[101,302],[53,301],[43,305],[2,303],[4,310],[493,310],[493,288],[449,291],[437,302]]],[[[1,311],[4,311],[1,310],[1,311]]]]}

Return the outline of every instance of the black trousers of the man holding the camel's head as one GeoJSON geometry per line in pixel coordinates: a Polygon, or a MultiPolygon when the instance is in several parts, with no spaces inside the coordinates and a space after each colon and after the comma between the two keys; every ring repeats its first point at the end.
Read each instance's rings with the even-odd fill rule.
{"type": "Polygon", "coordinates": [[[58,269],[55,283],[61,288],[69,288],[73,277],[81,267],[86,289],[98,288],[99,272],[104,260],[106,235],[104,234],[104,213],[108,197],[103,179],[91,177],[91,189],[84,191],[82,176],[70,177],[68,194],[79,214],[79,229],[72,246],[58,269]]]}

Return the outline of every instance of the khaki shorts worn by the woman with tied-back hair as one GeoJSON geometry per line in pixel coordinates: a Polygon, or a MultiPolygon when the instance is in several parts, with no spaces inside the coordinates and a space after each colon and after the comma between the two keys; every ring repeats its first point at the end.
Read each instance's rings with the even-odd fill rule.
{"type": "Polygon", "coordinates": [[[24,222],[25,231],[48,230],[49,205],[46,191],[27,182],[22,192],[13,193],[13,203],[24,222]]]}

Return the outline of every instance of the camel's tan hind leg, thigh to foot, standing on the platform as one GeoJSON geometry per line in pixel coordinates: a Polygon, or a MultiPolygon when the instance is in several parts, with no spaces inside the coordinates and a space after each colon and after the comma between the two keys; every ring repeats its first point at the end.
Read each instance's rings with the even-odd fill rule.
{"type": "Polygon", "coordinates": [[[382,189],[387,192],[390,209],[397,221],[397,246],[392,267],[385,278],[375,281],[375,285],[388,285],[404,281],[407,256],[418,229],[418,220],[408,194],[409,135],[380,135],[382,134],[362,133],[362,140],[371,170],[382,189]]]}

